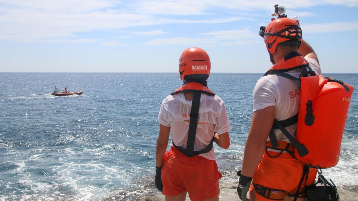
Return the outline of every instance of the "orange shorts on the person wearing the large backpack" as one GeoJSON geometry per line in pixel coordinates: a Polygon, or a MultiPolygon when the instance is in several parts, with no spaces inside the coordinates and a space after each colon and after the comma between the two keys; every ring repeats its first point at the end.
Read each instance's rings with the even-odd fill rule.
{"type": "MultiPolygon", "coordinates": [[[[270,156],[276,156],[279,152],[268,151],[270,156]]],[[[303,165],[289,153],[282,153],[277,158],[267,156],[265,152],[252,176],[252,182],[272,189],[284,190],[295,195],[303,174],[303,165]]],[[[304,178],[301,188],[312,185],[316,178],[317,169],[309,168],[308,179],[304,178]]],[[[258,201],[272,201],[258,194],[254,187],[250,186],[250,193],[256,193],[258,201]]],[[[304,192],[304,191],[303,191],[304,192]]],[[[282,199],[283,200],[283,199],[282,199]]]]}

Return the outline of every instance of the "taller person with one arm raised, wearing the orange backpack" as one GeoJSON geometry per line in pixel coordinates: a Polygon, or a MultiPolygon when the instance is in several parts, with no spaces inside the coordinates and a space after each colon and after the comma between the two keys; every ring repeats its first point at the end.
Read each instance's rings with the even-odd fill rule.
{"type": "MultiPolygon", "coordinates": [[[[318,57],[302,39],[302,31],[296,21],[285,17],[272,18],[266,27],[260,28],[260,35],[274,64],[271,70],[284,70],[296,78],[303,70],[321,74],[318,57]],[[305,66],[305,69],[300,66],[305,66]]],[[[253,89],[251,127],[242,168],[238,171],[237,192],[241,200],[248,200],[248,191],[250,200],[293,200],[297,196],[297,200],[306,200],[305,187],[314,183],[317,170],[309,168],[308,175],[303,177],[306,167],[293,157],[294,146],[280,129],[273,127],[274,119],[282,121],[295,116],[299,105],[299,82],[276,74],[266,75],[257,81],[253,89]],[[272,146],[276,142],[271,137],[277,139],[278,147],[272,146]]],[[[285,128],[295,137],[295,121],[285,128]]]]}

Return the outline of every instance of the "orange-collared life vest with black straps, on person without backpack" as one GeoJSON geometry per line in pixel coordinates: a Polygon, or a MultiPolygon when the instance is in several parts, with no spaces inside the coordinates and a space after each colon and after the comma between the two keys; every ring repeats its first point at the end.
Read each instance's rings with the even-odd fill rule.
{"type": "Polygon", "coordinates": [[[183,84],[179,89],[176,89],[171,95],[181,93],[181,92],[193,92],[192,100],[192,109],[190,111],[190,123],[189,123],[189,132],[188,132],[188,141],[187,147],[184,149],[180,146],[176,146],[174,141],[172,141],[173,146],[182,152],[185,156],[195,156],[202,153],[207,153],[213,148],[213,140],[211,143],[202,150],[194,151],[194,142],[195,134],[197,132],[198,117],[199,117],[199,105],[200,105],[200,96],[201,93],[206,93],[208,95],[215,95],[208,87],[204,87],[200,83],[189,82],[183,84]]]}

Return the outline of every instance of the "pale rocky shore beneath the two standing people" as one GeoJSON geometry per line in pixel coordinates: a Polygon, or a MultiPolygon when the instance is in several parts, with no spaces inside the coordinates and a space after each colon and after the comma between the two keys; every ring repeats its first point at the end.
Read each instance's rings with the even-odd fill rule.
{"type": "MultiPolygon", "coordinates": [[[[236,183],[223,183],[220,185],[220,195],[219,200],[239,200],[236,192],[236,183]]],[[[342,188],[338,188],[338,193],[340,196],[340,201],[357,201],[358,200],[358,192],[353,192],[349,190],[345,190],[342,188]]],[[[137,201],[164,201],[164,195],[152,194],[144,197],[137,198],[137,201]]],[[[190,201],[189,195],[187,194],[186,201],[190,201]]]]}

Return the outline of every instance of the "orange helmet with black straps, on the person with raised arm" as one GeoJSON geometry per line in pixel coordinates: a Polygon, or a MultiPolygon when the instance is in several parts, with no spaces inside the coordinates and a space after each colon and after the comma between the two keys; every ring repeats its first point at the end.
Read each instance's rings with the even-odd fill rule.
{"type": "Polygon", "coordinates": [[[260,36],[263,38],[269,53],[274,54],[279,43],[286,40],[302,41],[302,30],[295,20],[277,18],[267,26],[260,27],[260,36]]]}

